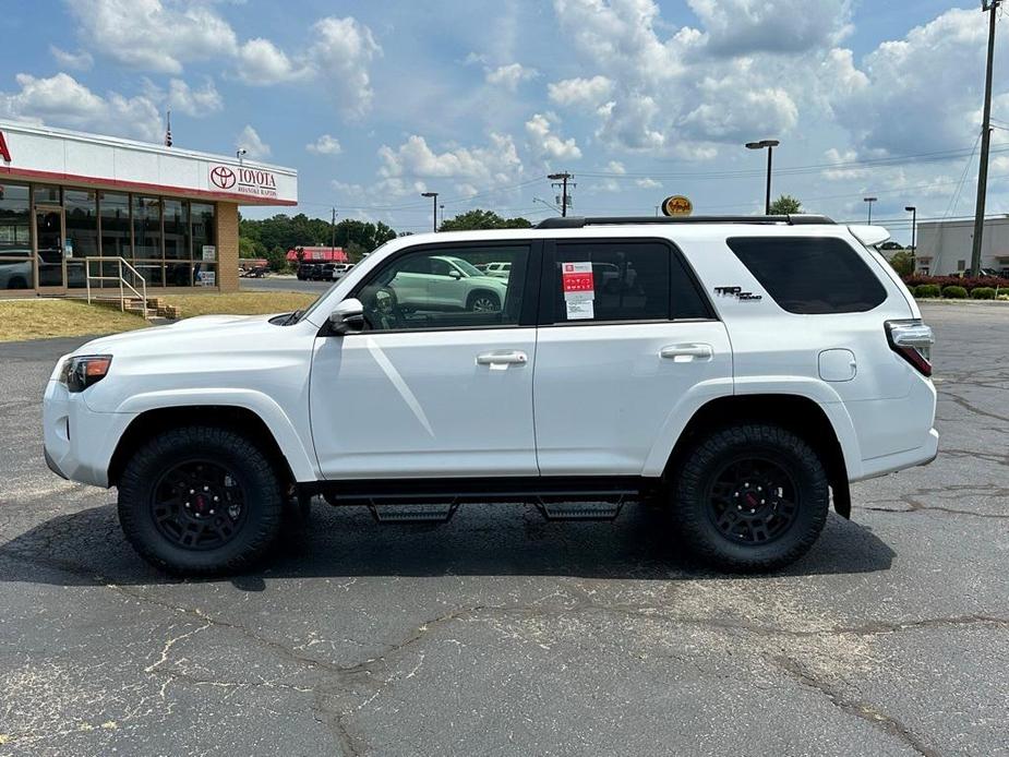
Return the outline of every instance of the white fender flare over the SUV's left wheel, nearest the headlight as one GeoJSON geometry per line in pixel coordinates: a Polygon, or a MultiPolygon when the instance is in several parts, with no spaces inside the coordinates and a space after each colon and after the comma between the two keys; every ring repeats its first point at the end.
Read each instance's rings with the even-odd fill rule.
{"type": "Polygon", "coordinates": [[[116,412],[137,417],[149,410],[194,406],[237,407],[255,413],[273,434],[296,481],[317,481],[321,478],[314,449],[305,448],[291,419],[272,397],[262,392],[233,388],[147,392],[127,398],[116,412]]]}

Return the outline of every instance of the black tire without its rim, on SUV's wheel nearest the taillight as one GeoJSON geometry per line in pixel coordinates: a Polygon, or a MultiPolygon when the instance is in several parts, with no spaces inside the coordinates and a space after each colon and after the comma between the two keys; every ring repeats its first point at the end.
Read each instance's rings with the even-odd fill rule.
{"type": "Polygon", "coordinates": [[[827,472],[813,447],[781,426],[755,423],[700,437],[674,471],[671,513],[683,546],[711,567],[732,573],[781,568],[804,555],[827,520],[827,472]],[[716,477],[748,455],[783,468],[794,482],[797,509],[780,536],[766,543],[733,541],[716,525],[709,490],[716,477]]]}

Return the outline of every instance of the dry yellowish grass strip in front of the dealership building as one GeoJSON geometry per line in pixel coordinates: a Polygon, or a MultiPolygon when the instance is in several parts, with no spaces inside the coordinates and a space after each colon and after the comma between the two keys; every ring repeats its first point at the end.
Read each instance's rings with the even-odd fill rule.
{"type": "MultiPolygon", "coordinates": [[[[158,295],[177,305],[182,317],[194,315],[266,315],[308,308],[314,295],[300,292],[236,292],[232,295],[158,295]]],[[[57,336],[117,334],[147,325],[140,315],[80,300],[0,301],[0,341],[57,336]]]]}

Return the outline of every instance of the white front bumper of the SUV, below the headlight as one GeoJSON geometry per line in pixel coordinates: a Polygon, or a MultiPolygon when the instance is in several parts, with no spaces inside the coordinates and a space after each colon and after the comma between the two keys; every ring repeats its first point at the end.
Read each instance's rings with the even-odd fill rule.
{"type": "Polygon", "coordinates": [[[50,380],[43,401],[46,465],[64,479],[108,488],[109,462],[133,413],[95,412],[85,393],[50,380]]]}

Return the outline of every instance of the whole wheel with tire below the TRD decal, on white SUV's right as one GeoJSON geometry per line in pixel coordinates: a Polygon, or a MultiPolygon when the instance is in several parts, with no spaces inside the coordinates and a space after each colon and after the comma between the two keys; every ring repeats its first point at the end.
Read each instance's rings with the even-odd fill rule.
{"type": "Polygon", "coordinates": [[[702,437],[677,471],[672,513],[685,546],[713,567],[772,570],[794,562],[827,520],[830,490],[817,454],[771,424],[702,437]]]}

